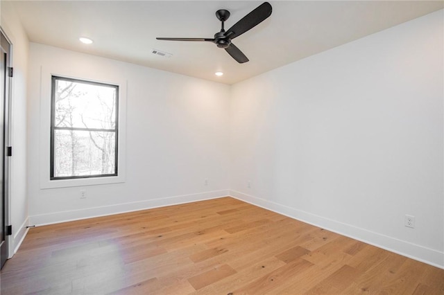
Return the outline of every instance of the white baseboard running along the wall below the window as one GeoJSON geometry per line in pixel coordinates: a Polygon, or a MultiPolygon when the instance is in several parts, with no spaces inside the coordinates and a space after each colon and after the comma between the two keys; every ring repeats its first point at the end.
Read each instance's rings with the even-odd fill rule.
{"type": "Polygon", "coordinates": [[[190,195],[180,195],[166,197],[162,199],[148,199],[140,202],[131,202],[123,204],[114,204],[110,206],[100,206],[85,208],[81,210],[61,211],[49,214],[29,216],[29,224],[42,226],[46,224],[56,224],[60,222],[69,222],[74,220],[83,220],[86,218],[113,215],[132,211],[146,210],[164,206],[178,205],[189,202],[203,201],[205,199],[216,199],[228,196],[229,190],[214,190],[205,193],[196,193],[190,195]]]}

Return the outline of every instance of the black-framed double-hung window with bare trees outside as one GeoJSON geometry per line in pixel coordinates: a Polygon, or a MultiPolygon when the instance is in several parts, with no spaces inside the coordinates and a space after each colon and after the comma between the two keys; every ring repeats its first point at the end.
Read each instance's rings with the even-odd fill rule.
{"type": "Polygon", "coordinates": [[[52,76],[50,179],[117,176],[119,87],[52,76]]]}

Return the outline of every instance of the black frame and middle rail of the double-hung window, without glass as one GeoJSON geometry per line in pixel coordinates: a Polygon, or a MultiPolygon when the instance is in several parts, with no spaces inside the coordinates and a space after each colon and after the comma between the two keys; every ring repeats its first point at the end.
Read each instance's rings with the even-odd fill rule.
{"type": "Polygon", "coordinates": [[[75,79],[75,78],[66,78],[60,75],[51,75],[51,150],[50,150],[50,163],[49,163],[49,179],[50,180],[61,180],[61,179],[83,179],[83,178],[96,178],[96,177],[113,177],[119,175],[119,85],[103,83],[103,82],[94,82],[89,80],[75,79]],[[116,93],[116,101],[115,101],[115,124],[114,129],[100,129],[100,128],[82,128],[82,127],[56,127],[56,81],[71,81],[78,82],[83,84],[91,84],[98,85],[104,87],[114,88],[116,93]],[[56,129],[58,130],[74,130],[74,131],[96,131],[96,132],[114,132],[114,173],[110,174],[100,174],[100,175],[75,175],[75,176],[66,176],[66,177],[55,177],[54,176],[54,157],[56,147],[55,143],[55,133],[56,129]]]}

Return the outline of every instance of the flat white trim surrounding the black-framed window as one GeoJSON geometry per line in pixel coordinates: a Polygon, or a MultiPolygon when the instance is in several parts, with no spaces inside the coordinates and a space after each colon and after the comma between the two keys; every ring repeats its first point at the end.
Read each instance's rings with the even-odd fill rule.
{"type": "MultiPolygon", "coordinates": [[[[102,73],[103,74],[103,73],[102,73]]],[[[106,75],[100,78],[91,73],[67,72],[66,69],[40,69],[40,188],[67,188],[70,186],[94,186],[118,184],[126,181],[126,89],[127,81],[106,75]],[[91,177],[82,179],[50,180],[51,160],[51,77],[89,80],[119,86],[119,137],[117,149],[118,175],[111,177],[91,177]]]]}

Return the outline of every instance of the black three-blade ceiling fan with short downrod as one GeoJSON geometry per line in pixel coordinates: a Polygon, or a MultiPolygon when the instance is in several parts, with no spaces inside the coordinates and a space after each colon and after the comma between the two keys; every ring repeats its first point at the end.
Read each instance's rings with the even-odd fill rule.
{"type": "Polygon", "coordinates": [[[264,19],[271,15],[271,5],[268,2],[264,2],[257,6],[255,10],[251,11],[238,21],[234,26],[225,31],[223,28],[224,22],[230,17],[230,12],[225,9],[217,10],[216,17],[222,22],[221,31],[214,34],[214,38],[164,38],[157,37],[157,40],[169,40],[169,41],[198,41],[198,42],[213,42],[219,48],[224,48],[231,57],[234,58],[239,64],[248,62],[248,58],[242,53],[242,51],[232,44],[231,40],[235,37],[239,37],[246,31],[254,28],[260,24],[264,19]]]}

